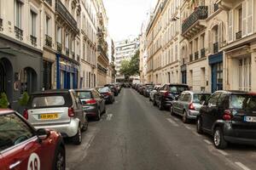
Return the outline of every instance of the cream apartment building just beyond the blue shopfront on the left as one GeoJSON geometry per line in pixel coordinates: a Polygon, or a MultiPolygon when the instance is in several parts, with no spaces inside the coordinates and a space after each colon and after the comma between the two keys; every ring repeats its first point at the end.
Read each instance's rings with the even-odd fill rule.
{"type": "Polygon", "coordinates": [[[96,1],[81,1],[81,31],[80,31],[80,87],[96,87],[96,44],[97,44],[97,18],[96,1]]]}

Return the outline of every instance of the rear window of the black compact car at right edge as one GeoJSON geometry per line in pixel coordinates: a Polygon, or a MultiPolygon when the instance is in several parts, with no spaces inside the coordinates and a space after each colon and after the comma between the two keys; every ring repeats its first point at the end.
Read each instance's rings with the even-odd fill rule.
{"type": "Polygon", "coordinates": [[[256,111],[256,96],[233,94],[230,96],[230,108],[256,111]]]}

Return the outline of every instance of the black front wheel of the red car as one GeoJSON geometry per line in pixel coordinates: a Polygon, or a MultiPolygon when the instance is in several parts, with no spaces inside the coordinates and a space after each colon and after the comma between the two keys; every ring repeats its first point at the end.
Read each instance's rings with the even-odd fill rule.
{"type": "Polygon", "coordinates": [[[54,161],[53,169],[54,170],[66,169],[65,150],[61,146],[59,146],[58,150],[55,153],[55,161],[54,161]]]}

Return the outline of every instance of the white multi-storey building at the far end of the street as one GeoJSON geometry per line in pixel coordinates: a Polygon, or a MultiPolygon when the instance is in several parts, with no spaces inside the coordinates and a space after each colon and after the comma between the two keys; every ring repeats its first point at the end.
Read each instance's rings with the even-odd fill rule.
{"type": "MultiPolygon", "coordinates": [[[[125,82],[125,77],[120,73],[121,63],[123,60],[130,60],[139,49],[139,39],[129,38],[119,42],[114,42],[115,47],[115,70],[116,82],[125,82]]],[[[130,79],[139,79],[138,76],[130,77],[130,79]]]]}

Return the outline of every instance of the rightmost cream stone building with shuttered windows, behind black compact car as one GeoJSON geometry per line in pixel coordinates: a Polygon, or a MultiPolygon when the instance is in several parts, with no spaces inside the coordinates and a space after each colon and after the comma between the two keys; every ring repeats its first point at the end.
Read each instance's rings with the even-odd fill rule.
{"type": "Polygon", "coordinates": [[[254,0],[218,2],[227,13],[224,51],[224,89],[256,91],[256,3],[254,0]]]}

